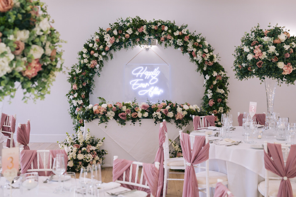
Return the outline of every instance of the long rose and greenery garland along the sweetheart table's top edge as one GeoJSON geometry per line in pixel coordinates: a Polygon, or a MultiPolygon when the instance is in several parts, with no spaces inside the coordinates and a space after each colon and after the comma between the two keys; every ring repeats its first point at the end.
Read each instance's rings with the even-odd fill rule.
{"type": "MultiPolygon", "coordinates": [[[[174,122],[176,127],[182,128],[192,121],[192,115],[202,116],[205,112],[201,112],[197,105],[189,103],[177,104],[171,101],[163,101],[162,103],[141,103],[136,100],[129,102],[116,102],[111,104],[100,98],[101,102],[95,105],[88,105],[86,108],[77,107],[76,114],[82,117],[80,120],[91,121],[95,118],[100,118],[100,123],[107,123],[109,120],[116,120],[118,124],[125,125],[127,121],[135,124],[143,118],[153,118],[154,123],[162,122],[165,119],[167,122],[174,122]]],[[[217,116],[215,116],[217,118],[217,116]]]]}

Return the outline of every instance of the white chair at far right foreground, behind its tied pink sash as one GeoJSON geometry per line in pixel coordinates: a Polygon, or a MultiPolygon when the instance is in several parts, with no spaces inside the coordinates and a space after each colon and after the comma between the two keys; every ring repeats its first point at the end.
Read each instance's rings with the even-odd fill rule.
{"type": "MultiPolygon", "coordinates": [[[[282,146],[282,154],[284,159],[284,164],[286,166],[287,158],[290,152],[289,144],[281,144],[282,146]]],[[[267,142],[264,142],[264,151],[268,153],[267,142]]],[[[272,159],[273,160],[273,159],[272,159]]],[[[295,164],[296,165],[296,164],[295,164]]],[[[258,191],[260,193],[260,197],[276,197],[278,195],[278,189],[280,186],[280,182],[283,177],[280,177],[274,173],[269,172],[269,170],[265,169],[265,181],[262,181],[258,184],[258,191]]],[[[296,178],[290,179],[296,180],[296,178]]],[[[296,183],[291,181],[293,196],[296,196],[296,183]]]]}

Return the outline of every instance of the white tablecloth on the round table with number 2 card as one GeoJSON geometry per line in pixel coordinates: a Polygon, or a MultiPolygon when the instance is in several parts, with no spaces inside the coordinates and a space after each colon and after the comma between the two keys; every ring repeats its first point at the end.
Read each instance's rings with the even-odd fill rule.
{"type": "MultiPolygon", "coordinates": [[[[264,150],[251,148],[253,144],[243,141],[242,127],[236,126],[235,128],[232,133],[229,133],[229,137],[237,142],[242,141],[242,143],[237,146],[210,144],[210,170],[227,174],[228,189],[232,191],[234,196],[256,197],[259,196],[257,185],[264,181],[265,177],[264,150]]],[[[202,133],[200,134],[202,135],[202,133]]],[[[210,140],[216,138],[219,137],[209,137],[210,140]]],[[[285,141],[267,138],[254,139],[254,141],[257,142],[255,145],[262,145],[264,141],[286,143],[285,141]]]]}

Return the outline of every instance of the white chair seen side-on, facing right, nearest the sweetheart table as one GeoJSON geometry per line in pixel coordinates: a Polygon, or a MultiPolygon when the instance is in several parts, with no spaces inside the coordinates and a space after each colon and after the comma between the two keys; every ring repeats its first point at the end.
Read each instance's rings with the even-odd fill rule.
{"type": "MultiPolygon", "coordinates": [[[[162,127],[162,123],[160,123],[162,127]]],[[[167,191],[167,181],[184,181],[184,179],[171,179],[169,178],[169,174],[184,174],[183,172],[170,172],[171,170],[185,170],[184,166],[184,158],[170,158],[170,150],[169,150],[169,141],[167,138],[167,132],[165,132],[166,141],[163,144],[163,153],[164,153],[164,160],[163,160],[163,168],[164,168],[164,179],[163,179],[163,197],[166,196],[167,191]]]]}

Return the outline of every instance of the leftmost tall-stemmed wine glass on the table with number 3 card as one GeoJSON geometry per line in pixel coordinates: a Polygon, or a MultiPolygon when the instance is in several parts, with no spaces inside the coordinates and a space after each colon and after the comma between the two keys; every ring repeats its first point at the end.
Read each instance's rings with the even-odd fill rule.
{"type": "Polygon", "coordinates": [[[64,174],[65,171],[66,171],[66,167],[65,167],[64,156],[57,154],[56,157],[53,159],[52,172],[58,175],[60,186],[55,188],[55,191],[53,193],[63,193],[65,191],[61,184],[61,175],[64,174]]]}

